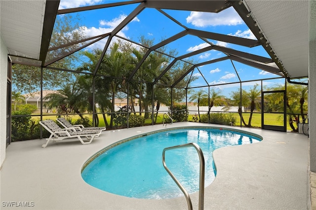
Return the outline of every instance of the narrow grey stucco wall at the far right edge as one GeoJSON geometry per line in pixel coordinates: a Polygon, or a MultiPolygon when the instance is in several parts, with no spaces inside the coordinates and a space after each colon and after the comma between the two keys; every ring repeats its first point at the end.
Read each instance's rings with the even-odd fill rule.
{"type": "Polygon", "coordinates": [[[310,1],[309,96],[310,169],[316,172],[316,0],[310,1]]]}

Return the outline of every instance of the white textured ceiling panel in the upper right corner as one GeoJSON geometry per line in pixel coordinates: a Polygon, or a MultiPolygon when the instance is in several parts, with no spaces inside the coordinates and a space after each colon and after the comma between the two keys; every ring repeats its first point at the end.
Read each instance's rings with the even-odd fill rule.
{"type": "Polygon", "coordinates": [[[245,0],[291,78],[308,76],[309,1],[245,0]]]}

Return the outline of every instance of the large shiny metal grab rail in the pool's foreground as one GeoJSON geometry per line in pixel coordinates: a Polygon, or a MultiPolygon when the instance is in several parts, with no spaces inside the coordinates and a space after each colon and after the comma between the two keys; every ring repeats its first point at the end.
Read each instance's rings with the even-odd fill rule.
{"type": "Polygon", "coordinates": [[[198,210],[203,210],[204,209],[204,177],[205,177],[205,161],[204,161],[204,155],[201,150],[201,148],[197,145],[197,143],[186,143],[186,144],[181,144],[181,145],[176,145],[176,146],[171,146],[171,147],[166,147],[162,151],[162,164],[164,169],[168,172],[168,174],[171,176],[171,178],[176,182],[178,187],[181,189],[183,194],[185,195],[187,199],[187,204],[188,204],[188,209],[193,210],[192,207],[192,202],[189,193],[187,190],[182,186],[182,184],[178,181],[178,179],[172,174],[172,172],[168,169],[166,166],[166,163],[164,161],[164,154],[166,150],[171,150],[171,149],[176,149],[179,147],[189,147],[193,146],[196,148],[198,157],[199,157],[199,187],[198,187],[198,210]]]}

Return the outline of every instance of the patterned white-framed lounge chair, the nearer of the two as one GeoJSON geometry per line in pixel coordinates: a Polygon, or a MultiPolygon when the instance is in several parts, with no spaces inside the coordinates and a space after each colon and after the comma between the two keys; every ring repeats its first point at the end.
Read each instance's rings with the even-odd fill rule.
{"type": "Polygon", "coordinates": [[[89,144],[95,137],[100,136],[102,132],[101,130],[76,131],[75,128],[62,129],[53,120],[40,121],[40,125],[42,125],[50,133],[49,138],[46,139],[46,143],[42,145],[44,148],[51,140],[57,141],[69,138],[78,138],[82,144],[89,144]],[[85,137],[89,141],[83,141],[81,137],[85,137]]]}

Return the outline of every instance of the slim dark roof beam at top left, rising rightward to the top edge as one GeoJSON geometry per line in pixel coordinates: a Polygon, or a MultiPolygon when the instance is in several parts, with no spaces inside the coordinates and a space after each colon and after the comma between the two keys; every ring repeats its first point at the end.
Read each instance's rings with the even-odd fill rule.
{"type": "Polygon", "coordinates": [[[93,9],[103,9],[103,8],[108,8],[108,7],[113,7],[113,6],[122,6],[122,5],[141,3],[141,2],[144,2],[144,0],[131,0],[131,1],[106,3],[106,4],[99,4],[99,5],[92,5],[92,6],[82,6],[82,7],[77,7],[77,8],[60,9],[58,10],[57,14],[60,15],[60,14],[82,12],[82,11],[93,10],[93,9]]]}

